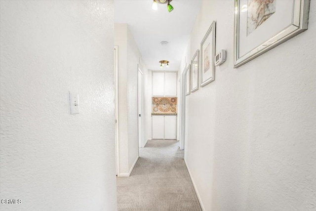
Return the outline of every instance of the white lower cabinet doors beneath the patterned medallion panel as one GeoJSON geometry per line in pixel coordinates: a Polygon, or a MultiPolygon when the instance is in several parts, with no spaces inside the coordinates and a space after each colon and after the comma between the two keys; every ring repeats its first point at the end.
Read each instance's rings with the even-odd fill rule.
{"type": "Polygon", "coordinates": [[[177,116],[176,115],[153,115],[153,139],[176,139],[177,116]]]}

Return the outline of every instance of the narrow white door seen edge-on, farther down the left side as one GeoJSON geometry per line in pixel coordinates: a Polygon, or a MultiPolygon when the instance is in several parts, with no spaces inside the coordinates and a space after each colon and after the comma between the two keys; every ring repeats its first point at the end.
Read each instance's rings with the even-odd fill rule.
{"type": "Polygon", "coordinates": [[[143,141],[143,109],[144,109],[144,77],[138,69],[138,145],[144,147],[143,141]]]}

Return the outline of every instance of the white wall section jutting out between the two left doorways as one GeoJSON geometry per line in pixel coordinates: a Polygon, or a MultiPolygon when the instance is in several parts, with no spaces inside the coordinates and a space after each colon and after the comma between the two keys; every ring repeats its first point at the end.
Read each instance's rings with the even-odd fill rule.
{"type": "MultiPolygon", "coordinates": [[[[118,45],[119,163],[123,176],[138,158],[138,64],[142,55],[127,24],[115,23],[114,28],[114,44],[118,45]]],[[[146,64],[140,66],[147,74],[146,64]]]]}

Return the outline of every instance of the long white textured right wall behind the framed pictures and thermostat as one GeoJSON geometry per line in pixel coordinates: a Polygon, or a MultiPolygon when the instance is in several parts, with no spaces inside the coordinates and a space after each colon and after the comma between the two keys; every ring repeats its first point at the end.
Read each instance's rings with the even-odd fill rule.
{"type": "Polygon", "coordinates": [[[233,0],[202,2],[186,54],[213,20],[216,51],[228,59],[186,108],[185,161],[202,207],[315,211],[316,1],[307,31],[237,69],[233,0]]]}

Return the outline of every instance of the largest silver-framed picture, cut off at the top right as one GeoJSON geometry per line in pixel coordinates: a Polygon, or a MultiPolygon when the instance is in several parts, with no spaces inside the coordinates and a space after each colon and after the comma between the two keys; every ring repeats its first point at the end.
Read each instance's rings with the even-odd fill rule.
{"type": "Polygon", "coordinates": [[[307,30],[309,4],[310,0],[235,0],[234,68],[307,30]]]}

